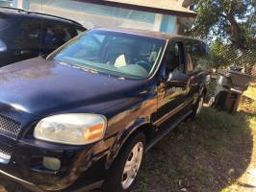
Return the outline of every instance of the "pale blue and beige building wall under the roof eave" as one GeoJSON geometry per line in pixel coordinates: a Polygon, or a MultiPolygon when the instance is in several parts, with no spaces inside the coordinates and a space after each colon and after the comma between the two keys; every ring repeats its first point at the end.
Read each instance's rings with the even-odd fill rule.
{"type": "Polygon", "coordinates": [[[71,18],[91,27],[120,27],[177,33],[176,16],[140,12],[72,0],[14,0],[23,9],[71,18]],[[42,2],[42,4],[41,4],[42,2]]]}

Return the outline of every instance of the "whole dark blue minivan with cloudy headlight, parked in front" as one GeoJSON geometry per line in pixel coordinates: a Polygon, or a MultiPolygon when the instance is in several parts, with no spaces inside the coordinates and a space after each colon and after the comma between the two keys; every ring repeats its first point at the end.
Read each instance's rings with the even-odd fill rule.
{"type": "Polygon", "coordinates": [[[35,191],[129,191],[145,153],[199,114],[209,58],[198,39],[94,29],[1,68],[0,173],[35,191]]]}

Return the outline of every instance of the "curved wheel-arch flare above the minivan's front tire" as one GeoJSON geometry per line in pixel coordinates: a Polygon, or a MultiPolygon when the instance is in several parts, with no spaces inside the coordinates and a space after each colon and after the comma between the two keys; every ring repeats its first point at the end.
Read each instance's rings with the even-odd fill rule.
{"type": "Polygon", "coordinates": [[[122,146],[126,143],[126,141],[130,138],[130,136],[137,132],[142,127],[146,128],[145,125],[150,126],[150,118],[149,117],[140,117],[137,118],[130,126],[123,130],[123,132],[119,132],[115,137],[115,143],[113,147],[110,149],[110,153],[107,157],[106,168],[109,168],[115,160],[115,157],[119,154],[122,146]]]}

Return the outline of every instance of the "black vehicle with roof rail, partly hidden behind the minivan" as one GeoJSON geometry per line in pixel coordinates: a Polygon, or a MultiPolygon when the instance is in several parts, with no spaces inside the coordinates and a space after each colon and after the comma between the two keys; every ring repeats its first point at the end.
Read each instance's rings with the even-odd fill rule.
{"type": "Polygon", "coordinates": [[[0,7],[0,66],[46,56],[84,31],[73,20],[0,7]]]}

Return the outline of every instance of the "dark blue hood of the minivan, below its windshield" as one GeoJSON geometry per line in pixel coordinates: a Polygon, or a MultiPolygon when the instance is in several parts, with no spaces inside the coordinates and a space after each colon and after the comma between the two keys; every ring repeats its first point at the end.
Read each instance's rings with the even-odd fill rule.
{"type": "Polygon", "coordinates": [[[0,69],[0,103],[39,116],[99,112],[129,97],[141,82],[53,60],[24,60],[0,69]]]}

